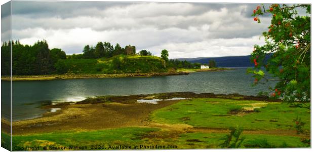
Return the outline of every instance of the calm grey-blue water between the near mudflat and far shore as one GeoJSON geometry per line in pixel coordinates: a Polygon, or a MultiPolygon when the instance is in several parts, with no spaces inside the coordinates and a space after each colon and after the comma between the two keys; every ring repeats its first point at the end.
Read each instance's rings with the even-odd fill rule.
{"type": "MultiPolygon", "coordinates": [[[[274,84],[251,87],[254,78],[246,68],[221,72],[194,72],[152,78],[73,79],[13,82],[13,120],[39,117],[43,103],[80,101],[88,96],[195,92],[257,95],[274,84]]],[[[10,82],[2,82],[6,87],[10,82]]],[[[3,92],[4,93],[4,92],[3,92]]],[[[8,108],[8,106],[2,106],[8,108]]],[[[4,109],[3,109],[4,110],[4,109]]]]}

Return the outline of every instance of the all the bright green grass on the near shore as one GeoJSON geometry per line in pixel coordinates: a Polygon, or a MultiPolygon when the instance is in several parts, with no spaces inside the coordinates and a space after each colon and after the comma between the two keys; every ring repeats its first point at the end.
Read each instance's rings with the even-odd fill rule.
{"type": "MultiPolygon", "coordinates": [[[[119,145],[131,145],[132,149],[136,149],[136,145],[153,145],[148,149],[221,148],[222,138],[229,134],[226,129],[239,126],[244,129],[240,137],[245,138],[240,148],[308,147],[301,142],[303,137],[295,132],[293,120],[296,117],[305,123],[305,130],[310,130],[310,113],[305,108],[279,102],[195,98],[153,111],[149,122],[163,127],[148,125],[14,135],[13,148],[69,145],[86,146],[86,149],[100,145],[100,149],[109,150],[119,145]],[[182,124],[192,129],[176,128],[182,124]],[[286,131],[289,135],[280,133],[286,131]]],[[[5,133],[2,136],[10,138],[5,133]]]]}

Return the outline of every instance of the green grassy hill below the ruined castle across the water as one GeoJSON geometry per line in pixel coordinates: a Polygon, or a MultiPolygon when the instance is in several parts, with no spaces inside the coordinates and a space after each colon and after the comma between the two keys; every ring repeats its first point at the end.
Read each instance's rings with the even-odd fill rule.
{"type": "Polygon", "coordinates": [[[59,60],[55,67],[57,73],[147,73],[166,72],[165,64],[165,60],[156,56],[119,55],[111,58],[59,60]]]}

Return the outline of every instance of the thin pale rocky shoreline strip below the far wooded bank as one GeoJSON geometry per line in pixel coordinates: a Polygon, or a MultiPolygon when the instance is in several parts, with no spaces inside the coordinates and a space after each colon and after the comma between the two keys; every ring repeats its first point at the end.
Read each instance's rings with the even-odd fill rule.
{"type": "MultiPolygon", "coordinates": [[[[188,72],[152,72],[152,73],[116,73],[116,74],[47,74],[47,75],[14,75],[12,81],[45,81],[89,78],[130,78],[158,77],[167,75],[187,75],[188,72]]],[[[2,81],[11,81],[11,77],[1,77],[2,81]]]]}

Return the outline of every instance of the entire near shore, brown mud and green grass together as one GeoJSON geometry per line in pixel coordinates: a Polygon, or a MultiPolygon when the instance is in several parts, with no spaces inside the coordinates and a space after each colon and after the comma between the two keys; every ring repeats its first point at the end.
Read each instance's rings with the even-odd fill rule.
{"type": "MultiPolygon", "coordinates": [[[[122,136],[124,139],[126,135],[128,143],[138,142],[146,145],[157,139],[157,144],[161,144],[167,139],[178,139],[179,141],[174,140],[173,144],[177,145],[183,141],[180,145],[185,148],[191,142],[208,145],[205,140],[212,137],[211,135],[214,135],[213,140],[219,141],[230,132],[230,127],[242,123],[246,124],[242,134],[246,138],[267,136],[269,141],[272,141],[270,139],[282,137],[298,143],[302,143],[300,139],[310,138],[307,133],[297,134],[291,122],[286,121],[286,117],[289,117],[289,120],[294,118],[285,111],[304,113],[302,119],[306,124],[309,124],[308,112],[288,106],[282,107],[280,101],[267,96],[193,92],[97,96],[75,103],[43,105],[43,109],[59,110],[47,111],[40,118],[12,122],[13,139],[14,145],[48,142],[55,144],[60,141],[83,145],[86,142],[114,144],[116,141],[122,142],[122,136]],[[158,99],[158,103],[139,101],[154,99],[158,99]],[[242,108],[235,112],[235,106],[242,108]],[[282,107],[281,110],[274,110],[278,107],[282,107]],[[265,113],[269,113],[269,117],[265,118],[265,113]],[[221,137],[216,137],[216,134],[221,137]],[[186,138],[181,140],[185,136],[186,138]]],[[[308,128],[307,125],[306,129],[308,128]]],[[[2,135],[10,137],[10,129],[10,122],[2,119],[2,135]]],[[[246,140],[244,146],[251,147],[250,141],[253,139],[246,140]]],[[[293,145],[294,142],[289,144],[292,147],[305,147],[293,145]]]]}

